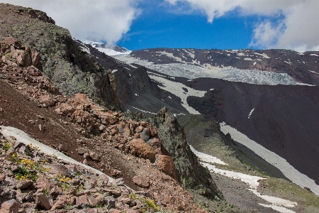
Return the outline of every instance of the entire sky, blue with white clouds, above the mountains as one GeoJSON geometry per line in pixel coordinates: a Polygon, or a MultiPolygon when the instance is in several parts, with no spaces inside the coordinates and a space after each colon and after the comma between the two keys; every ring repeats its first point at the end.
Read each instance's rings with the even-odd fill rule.
{"type": "Polygon", "coordinates": [[[318,0],[0,0],[79,40],[145,48],[319,50],[318,0]]]}

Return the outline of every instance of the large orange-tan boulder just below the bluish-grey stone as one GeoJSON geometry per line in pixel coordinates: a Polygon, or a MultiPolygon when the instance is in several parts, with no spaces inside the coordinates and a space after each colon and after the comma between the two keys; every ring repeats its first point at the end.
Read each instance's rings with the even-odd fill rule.
{"type": "Polygon", "coordinates": [[[130,153],[140,158],[149,159],[151,162],[155,160],[155,151],[145,143],[141,138],[135,138],[129,143],[130,153]]]}

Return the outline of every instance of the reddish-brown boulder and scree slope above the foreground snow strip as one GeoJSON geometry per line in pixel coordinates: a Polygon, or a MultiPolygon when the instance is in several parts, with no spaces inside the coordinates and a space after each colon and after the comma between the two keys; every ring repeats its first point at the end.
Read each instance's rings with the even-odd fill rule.
{"type": "MultiPolygon", "coordinates": [[[[14,48],[13,44],[9,46],[14,48]]],[[[144,190],[150,193],[147,195],[154,197],[157,205],[161,203],[159,206],[163,211],[170,212],[172,209],[177,212],[202,211],[194,203],[194,198],[175,179],[176,170],[173,160],[163,152],[164,147],[157,135],[156,127],[145,121],[124,119],[115,111],[105,111],[103,107],[96,105],[84,94],[77,94],[74,99],[68,99],[60,94],[38,68],[32,65],[19,66],[14,61],[18,62],[18,58],[13,56],[13,58],[1,61],[1,125],[13,126],[26,131],[38,141],[57,148],[84,164],[98,168],[113,178],[123,178],[125,184],[133,190],[144,190]],[[41,87],[38,86],[39,84],[41,87]],[[151,143],[145,143],[145,141],[151,141],[151,143]],[[183,195],[182,198],[181,195],[183,195]]],[[[7,143],[4,141],[4,146],[7,143]]],[[[5,153],[3,160],[7,160],[6,156],[11,155],[12,151],[5,153]]],[[[3,174],[9,174],[10,170],[11,168],[4,169],[3,174]]],[[[8,182],[2,184],[5,188],[14,187],[10,186],[8,182]]],[[[37,191],[36,189],[27,190],[33,190],[32,196],[37,191]]],[[[85,195],[89,196],[89,194],[85,195]]],[[[53,199],[51,206],[54,206],[59,199],[61,200],[59,203],[63,203],[61,208],[74,204],[75,197],[70,198],[70,203],[67,203],[69,201],[65,203],[62,201],[65,199],[63,196],[60,197],[61,199],[53,199]]],[[[131,195],[130,198],[126,198],[128,200],[144,199],[139,196],[131,195]]],[[[18,199],[16,195],[12,195],[11,198],[18,199]]],[[[9,197],[4,195],[2,199],[6,202],[9,197]]],[[[47,199],[50,201],[52,198],[49,196],[47,199]]],[[[148,201],[152,203],[151,200],[148,201]]],[[[145,200],[145,202],[148,201],[145,200]]],[[[33,201],[29,200],[29,202],[33,201]]],[[[30,206],[27,205],[26,208],[43,208],[41,204],[35,202],[30,206]]],[[[110,212],[136,206],[134,204],[130,207],[130,204],[125,202],[119,202],[113,210],[110,209],[110,212]]],[[[10,204],[17,206],[16,202],[9,201],[4,204],[3,208],[10,204]]],[[[78,207],[72,208],[77,211],[78,207]]],[[[105,209],[94,211],[100,210],[103,212],[105,209]]],[[[142,206],[133,210],[141,212],[142,206]]]]}

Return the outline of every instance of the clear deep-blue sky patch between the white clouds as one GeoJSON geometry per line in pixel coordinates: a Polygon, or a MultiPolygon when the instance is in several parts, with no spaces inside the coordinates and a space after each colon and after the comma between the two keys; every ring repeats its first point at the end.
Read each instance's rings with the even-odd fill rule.
{"type": "MultiPolygon", "coordinates": [[[[118,45],[130,50],[144,48],[250,48],[256,16],[237,12],[208,23],[203,13],[179,14],[166,6],[145,6],[118,45]]],[[[255,48],[255,47],[254,47],[255,48]]]]}

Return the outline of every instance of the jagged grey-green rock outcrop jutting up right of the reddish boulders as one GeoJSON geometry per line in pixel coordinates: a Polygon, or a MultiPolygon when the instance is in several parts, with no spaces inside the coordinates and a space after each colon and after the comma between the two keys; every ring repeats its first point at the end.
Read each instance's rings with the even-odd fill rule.
{"type": "Polygon", "coordinates": [[[184,128],[177,122],[172,111],[163,108],[150,118],[149,122],[159,129],[162,146],[174,160],[175,173],[181,185],[196,190],[200,195],[223,199],[223,194],[217,189],[208,169],[200,165],[198,158],[191,151],[184,128]]]}

